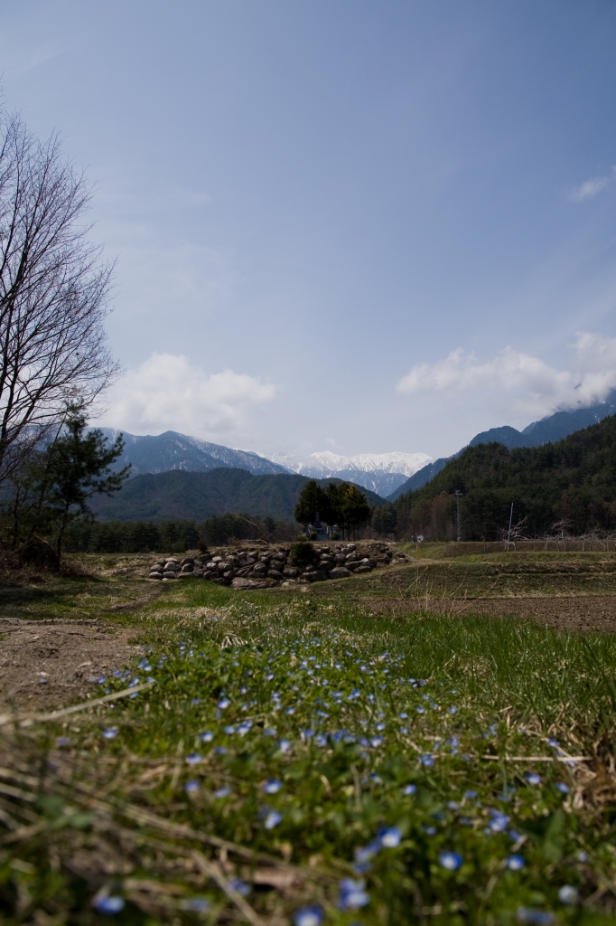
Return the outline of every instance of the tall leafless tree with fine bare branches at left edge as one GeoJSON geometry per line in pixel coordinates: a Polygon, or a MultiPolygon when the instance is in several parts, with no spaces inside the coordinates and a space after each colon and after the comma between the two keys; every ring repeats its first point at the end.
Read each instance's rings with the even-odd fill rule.
{"type": "Polygon", "coordinates": [[[42,143],[0,113],[0,482],[117,371],[104,329],[112,268],[83,220],[91,195],[56,135],[42,143]]]}

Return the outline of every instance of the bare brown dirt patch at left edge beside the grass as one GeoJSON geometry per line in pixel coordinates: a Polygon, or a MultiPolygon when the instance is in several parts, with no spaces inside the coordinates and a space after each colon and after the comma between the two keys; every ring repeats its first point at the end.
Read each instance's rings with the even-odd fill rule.
{"type": "Polygon", "coordinates": [[[0,619],[0,711],[44,711],[104,694],[94,680],[141,653],[129,642],[134,635],[98,620],[0,619]]]}

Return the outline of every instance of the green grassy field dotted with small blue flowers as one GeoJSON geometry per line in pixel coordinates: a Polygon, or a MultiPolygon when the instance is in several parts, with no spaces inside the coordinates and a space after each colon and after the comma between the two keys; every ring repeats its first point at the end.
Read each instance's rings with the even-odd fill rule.
{"type": "Polygon", "coordinates": [[[4,589],[7,627],[88,619],[141,651],[85,709],[5,715],[3,921],[616,921],[614,637],[374,610],[421,582],[610,594],[616,560],[421,553],[305,592],[163,590],[150,557],[4,589]]]}

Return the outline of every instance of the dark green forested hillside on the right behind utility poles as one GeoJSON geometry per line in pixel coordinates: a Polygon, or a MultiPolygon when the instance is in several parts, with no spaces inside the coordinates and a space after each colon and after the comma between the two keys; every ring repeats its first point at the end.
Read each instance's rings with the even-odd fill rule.
{"type": "Polygon", "coordinates": [[[378,509],[381,533],[455,537],[456,499],[462,493],[464,540],[496,540],[510,517],[523,519],[527,536],[541,536],[556,521],[581,534],[616,527],[616,416],[556,444],[516,447],[478,444],[451,459],[432,482],[378,509]]]}

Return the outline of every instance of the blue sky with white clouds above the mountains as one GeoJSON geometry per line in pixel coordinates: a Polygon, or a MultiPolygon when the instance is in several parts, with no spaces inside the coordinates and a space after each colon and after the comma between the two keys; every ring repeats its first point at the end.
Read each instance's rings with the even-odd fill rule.
{"type": "Polygon", "coordinates": [[[20,0],[0,31],[117,257],[105,424],[437,457],[616,386],[614,3],[20,0]]]}

